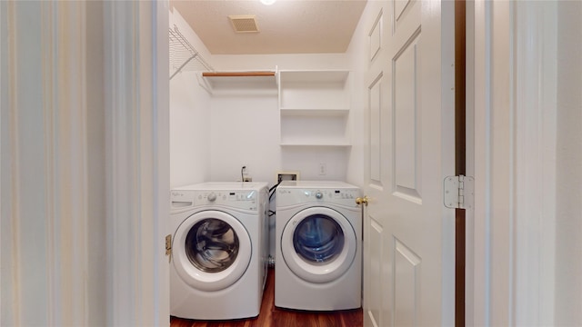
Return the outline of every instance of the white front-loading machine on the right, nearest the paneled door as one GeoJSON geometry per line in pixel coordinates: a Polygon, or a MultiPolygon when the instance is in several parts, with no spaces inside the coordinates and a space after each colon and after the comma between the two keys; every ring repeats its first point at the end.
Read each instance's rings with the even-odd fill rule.
{"type": "Polygon", "coordinates": [[[276,189],[275,305],[332,311],[362,299],[358,187],[288,181],[276,189]]]}

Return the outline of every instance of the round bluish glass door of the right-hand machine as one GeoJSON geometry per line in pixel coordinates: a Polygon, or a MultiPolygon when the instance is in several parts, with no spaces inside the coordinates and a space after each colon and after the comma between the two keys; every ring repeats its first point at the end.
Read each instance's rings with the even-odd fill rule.
{"type": "Polygon", "coordinates": [[[281,253],[289,269],[307,282],[332,282],[356,257],[356,232],[341,213],[311,207],[296,213],[281,235],[281,253]]]}

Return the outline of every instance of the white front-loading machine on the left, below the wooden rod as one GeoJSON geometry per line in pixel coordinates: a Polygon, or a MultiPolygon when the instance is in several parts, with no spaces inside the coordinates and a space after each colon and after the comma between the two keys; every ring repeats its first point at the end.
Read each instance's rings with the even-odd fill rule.
{"type": "Polygon", "coordinates": [[[170,314],[256,317],[268,263],[267,183],[199,183],[171,192],[170,314]]]}

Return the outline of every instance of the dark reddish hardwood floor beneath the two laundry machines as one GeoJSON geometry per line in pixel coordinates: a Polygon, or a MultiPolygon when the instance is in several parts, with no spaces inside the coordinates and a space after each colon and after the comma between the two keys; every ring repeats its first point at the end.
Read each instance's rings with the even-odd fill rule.
{"type": "Polygon", "coordinates": [[[269,269],[258,317],[235,321],[196,321],[171,317],[171,327],[360,327],[362,309],[336,312],[303,312],[275,307],[275,271],[269,269]]]}

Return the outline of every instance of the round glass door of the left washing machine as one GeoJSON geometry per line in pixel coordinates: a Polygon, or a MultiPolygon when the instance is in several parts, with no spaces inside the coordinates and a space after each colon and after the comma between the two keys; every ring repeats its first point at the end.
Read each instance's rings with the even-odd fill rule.
{"type": "Polygon", "coordinates": [[[172,242],[176,272],[201,291],[218,291],[242,277],[251,261],[251,240],[234,216],[216,210],[192,214],[172,242]]]}

